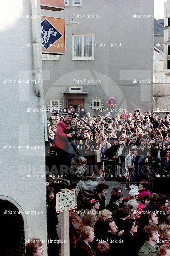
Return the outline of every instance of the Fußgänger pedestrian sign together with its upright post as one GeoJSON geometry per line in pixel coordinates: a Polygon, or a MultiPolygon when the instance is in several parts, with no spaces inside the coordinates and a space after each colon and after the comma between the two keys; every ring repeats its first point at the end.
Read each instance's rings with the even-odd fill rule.
{"type": "Polygon", "coordinates": [[[61,255],[70,255],[69,210],[76,208],[76,190],[61,189],[56,194],[56,212],[61,212],[61,255]]]}

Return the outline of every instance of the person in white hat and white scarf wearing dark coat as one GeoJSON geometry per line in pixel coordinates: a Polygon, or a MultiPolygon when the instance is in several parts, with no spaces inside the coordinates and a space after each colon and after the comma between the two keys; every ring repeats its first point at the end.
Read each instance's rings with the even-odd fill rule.
{"type": "Polygon", "coordinates": [[[128,154],[128,151],[127,151],[127,147],[125,146],[125,142],[123,140],[120,140],[119,147],[116,152],[116,158],[119,159],[119,163],[117,166],[117,172],[116,172],[117,176],[119,176],[120,174],[122,175],[122,174],[126,173],[124,162],[125,162],[125,157],[127,154],[128,154]]]}

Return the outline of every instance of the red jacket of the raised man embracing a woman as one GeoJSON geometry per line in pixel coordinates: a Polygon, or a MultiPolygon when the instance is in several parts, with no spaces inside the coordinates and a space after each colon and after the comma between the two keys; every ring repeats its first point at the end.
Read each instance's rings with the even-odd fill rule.
{"type": "Polygon", "coordinates": [[[56,138],[55,138],[55,148],[61,148],[61,149],[65,149],[67,144],[68,144],[68,140],[67,140],[67,134],[66,132],[66,128],[67,128],[68,124],[61,120],[58,125],[57,125],[57,132],[56,132],[56,138]]]}

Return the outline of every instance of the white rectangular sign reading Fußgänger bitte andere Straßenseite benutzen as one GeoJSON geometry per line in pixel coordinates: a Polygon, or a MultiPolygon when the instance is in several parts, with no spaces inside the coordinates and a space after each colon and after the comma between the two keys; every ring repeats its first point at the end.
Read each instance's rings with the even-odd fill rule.
{"type": "Polygon", "coordinates": [[[56,212],[67,211],[76,208],[76,190],[71,189],[56,194],[56,212]]]}

